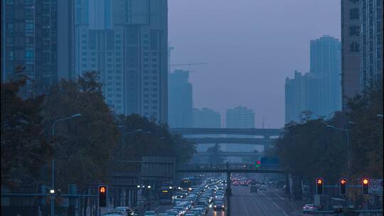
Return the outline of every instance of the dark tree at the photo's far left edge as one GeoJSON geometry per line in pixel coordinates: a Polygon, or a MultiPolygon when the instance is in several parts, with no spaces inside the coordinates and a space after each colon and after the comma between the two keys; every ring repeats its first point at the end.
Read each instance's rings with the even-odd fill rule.
{"type": "Polygon", "coordinates": [[[1,184],[8,187],[38,182],[39,169],[52,153],[44,134],[44,96],[18,96],[26,77],[1,83],[1,184]]]}

